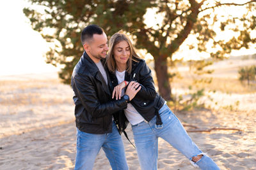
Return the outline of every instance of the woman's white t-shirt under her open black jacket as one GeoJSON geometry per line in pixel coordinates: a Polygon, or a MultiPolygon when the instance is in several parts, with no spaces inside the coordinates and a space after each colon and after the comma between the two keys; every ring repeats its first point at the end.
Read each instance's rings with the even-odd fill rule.
{"type": "MultiPolygon", "coordinates": [[[[118,80],[118,84],[124,81],[124,77],[125,77],[125,71],[119,72],[116,70],[116,78],[118,80]]],[[[122,90],[121,96],[124,96],[124,89],[122,90]]],[[[132,125],[139,124],[144,120],[144,118],[141,117],[140,113],[138,113],[138,111],[132,106],[131,103],[127,103],[127,108],[124,110],[124,113],[132,125]]]]}

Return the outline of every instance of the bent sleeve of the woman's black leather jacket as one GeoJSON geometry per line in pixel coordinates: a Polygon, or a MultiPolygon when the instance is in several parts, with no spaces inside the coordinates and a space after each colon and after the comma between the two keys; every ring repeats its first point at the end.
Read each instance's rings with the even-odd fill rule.
{"type": "Polygon", "coordinates": [[[138,83],[140,83],[141,89],[138,92],[137,96],[140,96],[144,99],[154,100],[157,92],[155,89],[154,80],[152,78],[150,68],[147,66],[146,62],[143,61],[138,65],[138,69],[138,72],[136,72],[140,76],[138,83]]]}

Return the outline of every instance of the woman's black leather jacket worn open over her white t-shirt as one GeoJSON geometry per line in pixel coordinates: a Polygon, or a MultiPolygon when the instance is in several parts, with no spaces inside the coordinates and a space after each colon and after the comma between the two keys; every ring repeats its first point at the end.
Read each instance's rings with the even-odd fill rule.
{"type": "MultiPolygon", "coordinates": [[[[118,85],[115,73],[109,72],[109,77],[114,87],[118,85]]],[[[141,85],[140,91],[131,100],[132,106],[134,106],[138,113],[140,113],[147,122],[149,122],[155,115],[157,116],[158,114],[159,116],[158,111],[163,106],[164,99],[156,92],[151,70],[147,66],[145,60],[140,59],[138,62],[132,61],[131,74],[125,72],[125,81],[137,81],[141,85]]],[[[127,125],[127,118],[124,115],[124,111],[115,116],[119,117],[119,130],[124,130],[127,125]],[[120,116],[122,116],[122,118],[120,118],[120,116]]],[[[160,117],[157,118],[157,121],[157,124],[162,124],[160,117]]]]}

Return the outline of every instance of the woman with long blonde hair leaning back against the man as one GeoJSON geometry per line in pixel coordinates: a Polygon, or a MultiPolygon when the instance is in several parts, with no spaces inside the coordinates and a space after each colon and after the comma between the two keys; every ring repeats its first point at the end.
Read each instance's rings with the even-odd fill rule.
{"type": "Polygon", "coordinates": [[[137,81],[140,91],[124,110],[118,124],[125,129],[125,120],[132,125],[134,141],[141,169],[157,169],[158,138],[163,138],[185,155],[193,166],[219,169],[214,161],[193,143],[178,118],[159,96],[150,69],[140,59],[124,32],[116,32],[109,40],[107,66],[116,99],[124,95],[130,81],[137,81]],[[123,124],[123,125],[122,125],[123,124]]]}

